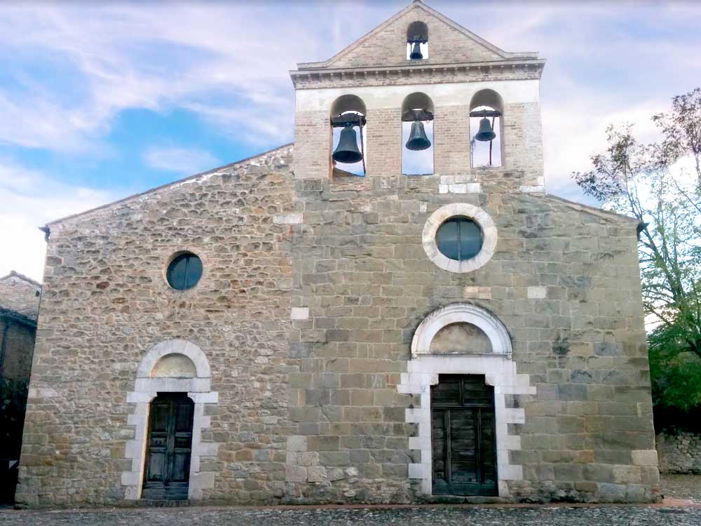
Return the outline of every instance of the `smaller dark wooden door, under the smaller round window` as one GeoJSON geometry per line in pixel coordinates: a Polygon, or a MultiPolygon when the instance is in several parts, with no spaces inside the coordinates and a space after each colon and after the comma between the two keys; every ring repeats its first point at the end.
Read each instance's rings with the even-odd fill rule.
{"type": "Polygon", "coordinates": [[[151,402],[144,499],[187,499],[194,407],[185,393],[151,402]]]}

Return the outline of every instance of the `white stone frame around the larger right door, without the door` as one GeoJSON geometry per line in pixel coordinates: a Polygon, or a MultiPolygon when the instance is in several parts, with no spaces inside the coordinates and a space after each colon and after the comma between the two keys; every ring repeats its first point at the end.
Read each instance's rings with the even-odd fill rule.
{"type": "Polygon", "coordinates": [[[511,340],[498,319],[472,304],[451,304],[430,313],[418,326],[411,342],[412,359],[397,386],[400,393],[421,396],[421,407],[406,410],[406,422],[418,424],[418,436],[409,437],[409,449],[421,451],[421,462],[409,464],[409,478],[421,480],[421,491],[433,491],[433,450],[431,447],[431,386],[438,375],[484,375],[486,384],[494,387],[496,423],[496,465],[499,497],[509,497],[507,480],[522,480],[523,468],[510,464],[509,453],[521,449],[521,437],[508,433],[508,424],[523,424],[521,408],[506,407],[506,395],[536,394],[529,375],[519,375],[511,359],[511,340]],[[491,354],[430,354],[430,342],[436,333],[450,323],[472,323],[489,337],[491,354]]]}

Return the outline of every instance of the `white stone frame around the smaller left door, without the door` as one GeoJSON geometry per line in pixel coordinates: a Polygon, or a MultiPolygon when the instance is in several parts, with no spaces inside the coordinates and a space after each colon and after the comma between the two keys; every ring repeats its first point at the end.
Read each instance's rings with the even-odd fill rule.
{"type": "Polygon", "coordinates": [[[132,461],[130,471],[123,471],[121,484],[124,487],[125,500],[141,498],[144,486],[146,462],[147,433],[149,430],[149,409],[151,400],[161,393],[187,393],[194,403],[192,424],[192,450],[190,457],[190,478],[188,499],[202,498],[202,490],[214,487],[214,471],[201,471],[203,457],[217,456],[218,444],[202,442],[202,431],[211,425],[210,417],[205,415],[205,404],[218,402],[218,393],[212,391],[210,365],[205,353],[195,344],[184,339],[168,339],[160,342],[146,353],[137,370],[134,391],[127,393],[127,403],[135,404],[135,410],[128,415],[127,423],[134,426],[134,438],[128,440],[124,457],[132,461]],[[187,376],[179,376],[177,371],[168,377],[152,377],[158,360],[164,356],[182,355],[189,358],[196,371],[192,376],[191,368],[187,376]]]}

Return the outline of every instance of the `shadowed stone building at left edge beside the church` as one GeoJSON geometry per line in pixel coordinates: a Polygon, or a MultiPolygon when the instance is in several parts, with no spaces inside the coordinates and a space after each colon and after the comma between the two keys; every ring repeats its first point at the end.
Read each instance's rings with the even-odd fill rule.
{"type": "Polygon", "coordinates": [[[27,276],[0,278],[0,503],[15,495],[40,297],[27,276]]]}

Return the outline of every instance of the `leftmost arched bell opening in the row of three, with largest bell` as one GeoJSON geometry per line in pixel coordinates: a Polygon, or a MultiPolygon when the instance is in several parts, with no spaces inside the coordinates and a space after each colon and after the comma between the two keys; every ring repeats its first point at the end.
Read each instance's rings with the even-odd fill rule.
{"type": "Polygon", "coordinates": [[[334,170],[365,175],[367,110],[355,95],[342,95],[331,106],[331,162],[334,170]]]}

